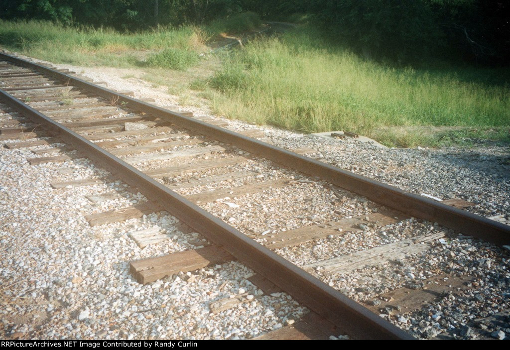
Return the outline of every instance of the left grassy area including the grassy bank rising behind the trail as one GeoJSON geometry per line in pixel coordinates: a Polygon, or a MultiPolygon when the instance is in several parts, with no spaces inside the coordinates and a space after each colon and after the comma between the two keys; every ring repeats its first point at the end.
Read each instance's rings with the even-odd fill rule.
{"type": "Polygon", "coordinates": [[[184,70],[198,62],[208,40],[260,24],[260,18],[250,12],[217,19],[207,26],[161,27],[139,33],[71,28],[46,21],[0,20],[0,44],[58,63],[184,70]]]}

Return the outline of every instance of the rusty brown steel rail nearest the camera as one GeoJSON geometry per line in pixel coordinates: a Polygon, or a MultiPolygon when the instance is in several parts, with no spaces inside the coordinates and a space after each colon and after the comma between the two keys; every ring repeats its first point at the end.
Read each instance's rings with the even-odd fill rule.
{"type": "Polygon", "coordinates": [[[165,185],[1,89],[0,100],[43,124],[62,141],[83,152],[126,183],[137,187],[149,200],[158,202],[173,216],[282,288],[302,305],[330,321],[340,332],[358,339],[414,339],[389,321],[246,237],[165,185]]]}

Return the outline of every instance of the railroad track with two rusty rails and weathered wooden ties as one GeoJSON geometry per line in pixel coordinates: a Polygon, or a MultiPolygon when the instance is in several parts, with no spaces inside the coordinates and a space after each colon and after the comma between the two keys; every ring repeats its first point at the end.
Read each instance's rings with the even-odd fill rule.
{"type": "MultiPolygon", "coordinates": [[[[130,191],[147,198],[146,202],[131,207],[92,213],[87,217],[90,225],[166,210],[183,223],[181,229],[194,230],[207,239],[195,250],[133,261],[131,273],[140,283],[238,260],[257,273],[250,282],[264,292],[284,291],[311,310],[296,324],[261,338],[327,339],[347,334],[363,339],[412,339],[376,314],[388,309],[389,301],[397,295],[402,299],[404,294],[411,293],[409,290],[396,290],[388,301],[382,298],[382,303],[363,306],[333,288],[334,283],[323,281],[327,276],[426,252],[431,242],[444,239],[447,234],[435,231],[348,256],[300,262],[299,266],[276,252],[285,255],[289,247],[313,249],[318,240],[351,232],[363,234],[365,227],[385,227],[412,218],[435,222],[445,230],[449,228],[497,245],[510,241],[510,228],[504,223],[462,210],[472,203],[460,199],[441,203],[406,193],[303,155],[313,150],[290,151],[261,142],[255,139],[262,137],[258,130],[233,132],[219,120],[171,112],[68,71],[7,53],[0,53],[0,60],[3,103],[0,108],[8,113],[17,112],[11,113],[11,119],[0,120],[0,140],[6,142],[6,147],[35,147],[34,157],[28,159],[33,165],[87,157],[108,170],[111,178],[127,183],[130,191]],[[240,164],[248,165],[249,170],[239,169],[240,164]],[[225,181],[230,181],[227,188],[225,181]],[[301,191],[311,191],[335,203],[361,199],[363,205],[356,210],[358,215],[329,210],[321,214],[322,222],[302,220],[302,227],[294,222],[284,229],[263,232],[250,229],[248,219],[242,223],[233,214],[239,205],[231,198],[247,196],[257,201],[262,193],[270,198],[282,195],[292,198],[293,193],[301,191]]],[[[59,189],[107,180],[81,179],[52,186],[59,189]]],[[[91,200],[107,201],[112,196],[115,197],[98,194],[91,200]]],[[[271,209],[264,205],[262,209],[270,218],[271,209]]],[[[140,247],[168,238],[157,230],[136,231],[132,237],[140,247]]],[[[292,254],[289,256],[292,260],[292,254]]],[[[461,289],[471,280],[460,277],[453,283],[450,279],[446,285],[444,276],[438,275],[427,281],[429,287],[443,292],[451,285],[461,289]]],[[[222,312],[242,303],[243,298],[241,295],[218,300],[211,307],[222,312]]]]}

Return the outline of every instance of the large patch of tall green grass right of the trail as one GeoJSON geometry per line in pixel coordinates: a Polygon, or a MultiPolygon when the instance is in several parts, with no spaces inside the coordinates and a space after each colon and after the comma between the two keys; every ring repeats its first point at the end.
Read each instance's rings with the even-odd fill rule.
{"type": "Polygon", "coordinates": [[[373,134],[388,125],[508,127],[505,78],[508,70],[390,67],[303,28],[247,45],[208,83],[221,92],[210,94],[214,109],[230,118],[373,134]]]}

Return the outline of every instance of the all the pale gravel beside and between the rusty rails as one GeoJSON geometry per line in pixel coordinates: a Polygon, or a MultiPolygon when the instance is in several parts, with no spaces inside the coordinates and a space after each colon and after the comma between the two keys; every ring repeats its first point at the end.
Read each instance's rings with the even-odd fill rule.
{"type": "MultiPolygon", "coordinates": [[[[159,105],[176,104],[177,101],[176,96],[167,95],[163,88],[151,88],[150,84],[136,78],[120,78],[124,75],[123,70],[56,66],[83,71],[94,80],[108,82],[109,88],[133,90],[135,97],[155,98],[159,105]]],[[[198,107],[186,106],[182,110],[210,116],[208,110],[198,107]]],[[[240,121],[228,123],[236,130],[255,127],[240,121]]],[[[326,163],[412,193],[442,199],[463,198],[476,204],[469,208],[472,212],[482,216],[503,214],[506,220],[510,219],[508,147],[480,144],[471,149],[381,149],[355,140],[325,140],[272,127],[260,128],[278,146],[287,149],[310,147],[316,150],[310,156],[326,163]]],[[[84,160],[31,167],[25,160],[31,156],[26,150],[0,151],[0,243],[6,252],[0,265],[3,282],[0,323],[6,336],[245,338],[281,327],[304,311],[283,294],[277,298],[256,298],[240,308],[210,315],[208,303],[236,294],[241,288],[258,295],[257,288],[246,280],[252,272],[236,263],[199,271],[200,283],[176,278],[149,286],[138,285],[129,275],[129,261],[193,248],[195,245],[190,242],[199,240],[199,235],[177,231],[173,227],[175,219],[164,214],[91,228],[83,218],[86,214],[123,207],[143,200],[143,196],[124,191],[120,182],[52,190],[48,185],[50,180],[103,177],[105,174],[84,160]],[[56,170],[65,166],[73,167],[74,172],[58,174],[56,170]],[[108,191],[119,192],[122,198],[98,204],[85,198],[108,191]],[[140,250],[126,235],[154,225],[167,230],[172,239],[140,250]],[[220,291],[219,286],[222,286],[220,291]],[[203,290],[211,294],[203,293],[203,290]],[[157,326],[163,324],[168,327],[157,326]]],[[[233,171],[259,172],[264,174],[263,180],[296,178],[293,172],[271,169],[269,164],[261,167],[247,163],[233,167],[233,171]]],[[[179,181],[195,175],[170,180],[179,181]]],[[[217,186],[235,184],[235,181],[227,181],[217,186]]],[[[213,188],[208,187],[209,190],[213,188]]],[[[180,192],[191,194],[202,190],[203,187],[191,187],[180,192]]],[[[297,192],[278,189],[244,196],[240,201],[228,199],[229,203],[241,207],[221,202],[203,206],[241,231],[254,235],[261,235],[268,229],[292,229],[367,214],[377,208],[374,203],[348,194],[340,206],[334,201],[335,196],[320,183],[303,182],[297,192]],[[295,203],[303,211],[303,216],[293,216],[288,203],[295,203]]],[[[440,231],[445,230],[432,223],[407,220],[381,229],[370,228],[363,233],[283,248],[278,252],[295,263],[304,264],[440,231]]],[[[405,317],[381,314],[422,338],[433,337],[448,329],[463,329],[472,319],[508,309],[508,250],[458,236],[449,230],[446,234],[449,239],[434,243],[428,252],[397,264],[364,268],[348,274],[320,271],[316,274],[349,297],[363,302],[370,302],[378,294],[400,286],[419,285],[421,280],[437,272],[476,277],[476,285],[458,297],[445,295],[439,302],[405,317]]],[[[506,329],[489,331],[509,335],[510,325],[506,329]]],[[[470,338],[472,334],[465,331],[462,336],[470,338]]]]}

